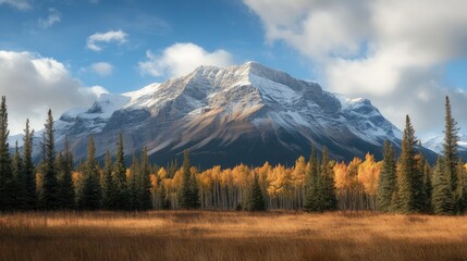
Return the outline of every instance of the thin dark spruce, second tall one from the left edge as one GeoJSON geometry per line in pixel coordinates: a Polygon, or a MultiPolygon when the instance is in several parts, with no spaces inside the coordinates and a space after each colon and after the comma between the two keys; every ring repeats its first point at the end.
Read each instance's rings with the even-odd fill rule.
{"type": "Polygon", "coordinates": [[[23,137],[23,183],[26,191],[24,198],[26,210],[34,210],[37,208],[36,173],[33,162],[33,138],[34,130],[29,130],[29,120],[27,120],[23,137]]]}

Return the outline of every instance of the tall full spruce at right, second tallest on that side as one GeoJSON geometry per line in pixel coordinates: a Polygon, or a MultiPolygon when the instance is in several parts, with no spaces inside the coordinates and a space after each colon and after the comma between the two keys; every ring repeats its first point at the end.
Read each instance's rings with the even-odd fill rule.
{"type": "Polygon", "coordinates": [[[402,153],[400,158],[400,172],[397,174],[397,208],[398,211],[403,213],[417,211],[414,187],[420,184],[416,184],[414,178],[417,172],[414,151],[415,146],[415,130],[411,126],[410,117],[406,115],[402,140],[402,153]]]}

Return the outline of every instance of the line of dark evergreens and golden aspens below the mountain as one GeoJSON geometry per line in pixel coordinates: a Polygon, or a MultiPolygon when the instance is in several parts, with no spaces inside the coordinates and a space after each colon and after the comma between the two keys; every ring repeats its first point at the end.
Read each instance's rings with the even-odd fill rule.
{"type": "Polygon", "coordinates": [[[371,154],[353,161],[331,160],[325,147],[295,165],[200,171],[184,151],[183,164],[151,165],[146,148],[124,161],[122,134],[103,165],[95,156],[89,136],[87,159],[74,164],[67,138],[54,148],[53,117],[49,110],[41,142],[41,160],[33,163],[34,130],[26,121],[23,148],[10,153],[5,97],[0,104],[0,210],[125,210],[220,209],[262,211],[272,209],[322,211],[372,210],[400,213],[462,214],[467,208],[466,164],[457,152],[458,128],[445,99],[443,156],[430,166],[415,137],[410,119],[396,158],[385,141],[383,160],[371,154]]]}

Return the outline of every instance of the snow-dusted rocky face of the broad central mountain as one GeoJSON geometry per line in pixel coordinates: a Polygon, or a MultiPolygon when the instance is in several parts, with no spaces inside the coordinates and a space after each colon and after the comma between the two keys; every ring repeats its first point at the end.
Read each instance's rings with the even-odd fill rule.
{"type": "Polygon", "coordinates": [[[127,157],[147,147],[153,162],[165,164],[189,149],[201,167],[293,164],[311,146],[327,146],[335,160],[366,152],[380,158],[383,141],[398,147],[402,136],[369,100],[333,95],[254,62],[200,66],[137,91],[102,95],[54,126],[58,148],[67,136],[76,159],[86,157],[90,134],[102,157],[122,133],[127,157]]]}

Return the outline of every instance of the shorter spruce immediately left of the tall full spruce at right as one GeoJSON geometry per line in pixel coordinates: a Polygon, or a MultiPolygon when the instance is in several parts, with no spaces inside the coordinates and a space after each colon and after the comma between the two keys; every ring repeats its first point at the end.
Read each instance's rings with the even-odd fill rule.
{"type": "Polygon", "coordinates": [[[396,165],[394,146],[384,141],[383,166],[380,173],[377,209],[382,212],[392,210],[392,198],[396,192],[396,165]]]}

